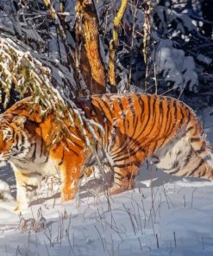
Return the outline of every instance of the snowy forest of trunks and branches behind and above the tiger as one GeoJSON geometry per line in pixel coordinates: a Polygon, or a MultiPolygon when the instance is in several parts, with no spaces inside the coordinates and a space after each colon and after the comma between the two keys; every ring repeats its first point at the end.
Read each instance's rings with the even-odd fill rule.
{"type": "Polygon", "coordinates": [[[212,105],[212,13],[208,0],[1,1],[3,106],[53,87],[66,102],[140,91],[212,105]]]}

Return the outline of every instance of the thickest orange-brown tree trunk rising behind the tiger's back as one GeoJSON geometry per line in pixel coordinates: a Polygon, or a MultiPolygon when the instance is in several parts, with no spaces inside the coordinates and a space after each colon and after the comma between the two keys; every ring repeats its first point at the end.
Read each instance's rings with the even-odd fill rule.
{"type": "Polygon", "coordinates": [[[90,94],[106,93],[106,71],[100,53],[98,19],[92,0],[76,3],[76,65],[90,94]]]}

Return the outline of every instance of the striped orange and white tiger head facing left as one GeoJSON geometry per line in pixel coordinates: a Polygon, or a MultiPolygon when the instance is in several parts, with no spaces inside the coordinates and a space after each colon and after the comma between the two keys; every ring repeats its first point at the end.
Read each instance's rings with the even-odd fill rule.
{"type": "Polygon", "coordinates": [[[23,116],[0,116],[0,165],[13,158],[26,157],[28,154],[28,132],[23,116]]]}

